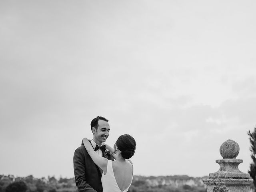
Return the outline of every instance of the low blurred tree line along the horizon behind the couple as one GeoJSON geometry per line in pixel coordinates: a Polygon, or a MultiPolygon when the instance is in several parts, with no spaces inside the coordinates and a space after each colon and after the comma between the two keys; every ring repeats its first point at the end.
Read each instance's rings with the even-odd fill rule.
{"type": "MultiPolygon", "coordinates": [[[[129,192],[206,192],[201,178],[189,176],[134,176],[129,192]],[[193,180],[194,185],[187,184],[193,180]],[[164,184],[163,181],[167,183],[164,184]],[[172,181],[172,184],[170,183],[172,181]],[[169,182],[169,183],[168,183],[169,182]],[[176,183],[174,185],[173,183],[176,183]],[[178,186],[177,186],[178,184],[178,186]]],[[[16,177],[0,175],[0,192],[76,192],[74,178],[16,177]]]]}

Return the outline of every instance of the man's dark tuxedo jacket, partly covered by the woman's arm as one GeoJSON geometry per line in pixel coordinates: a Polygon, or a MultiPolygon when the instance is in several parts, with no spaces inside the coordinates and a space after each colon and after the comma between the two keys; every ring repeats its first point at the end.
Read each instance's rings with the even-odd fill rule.
{"type": "MultiPolygon", "coordinates": [[[[102,151],[102,156],[114,160],[104,151],[102,151]]],[[[75,150],[73,162],[76,192],[102,192],[102,170],[93,162],[84,146],[75,150]]]]}

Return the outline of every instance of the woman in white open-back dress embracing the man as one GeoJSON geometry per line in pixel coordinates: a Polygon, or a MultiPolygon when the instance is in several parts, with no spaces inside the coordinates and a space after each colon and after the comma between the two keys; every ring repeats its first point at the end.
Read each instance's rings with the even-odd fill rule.
{"type": "Polygon", "coordinates": [[[121,135],[114,144],[114,149],[103,144],[115,161],[98,156],[87,138],[83,139],[83,143],[94,163],[103,171],[103,192],[127,192],[133,178],[133,164],[129,159],[136,149],[134,138],[128,134],[121,135]]]}

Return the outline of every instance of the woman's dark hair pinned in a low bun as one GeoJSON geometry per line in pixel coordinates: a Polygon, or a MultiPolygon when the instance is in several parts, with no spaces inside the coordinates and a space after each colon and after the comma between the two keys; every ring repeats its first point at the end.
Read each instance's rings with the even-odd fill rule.
{"type": "Polygon", "coordinates": [[[128,134],[121,135],[116,141],[116,147],[121,151],[121,155],[125,159],[130,159],[136,149],[136,141],[128,134]]]}

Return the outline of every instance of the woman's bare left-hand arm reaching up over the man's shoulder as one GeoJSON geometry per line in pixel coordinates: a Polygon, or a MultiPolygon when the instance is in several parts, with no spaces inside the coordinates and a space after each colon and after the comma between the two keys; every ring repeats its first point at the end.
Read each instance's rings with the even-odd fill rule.
{"type": "Polygon", "coordinates": [[[87,138],[83,138],[83,143],[84,147],[86,148],[88,154],[92,158],[93,162],[98,165],[99,168],[101,168],[104,173],[107,172],[107,164],[108,164],[108,159],[104,157],[100,157],[95,151],[94,148],[92,147],[92,144],[88,141],[87,138]]]}

